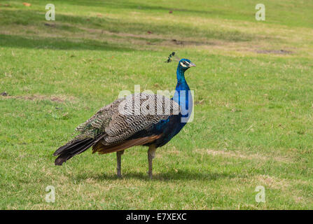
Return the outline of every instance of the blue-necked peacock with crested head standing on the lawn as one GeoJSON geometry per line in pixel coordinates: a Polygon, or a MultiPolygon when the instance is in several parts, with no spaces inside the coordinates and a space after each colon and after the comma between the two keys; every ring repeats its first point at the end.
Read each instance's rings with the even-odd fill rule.
{"type": "MultiPolygon", "coordinates": [[[[174,52],[167,62],[172,61],[174,52]]],[[[121,176],[121,155],[132,146],[148,146],[148,175],[152,179],[155,150],[169,142],[188,123],[193,110],[193,97],[184,73],[195,66],[180,59],[174,97],[144,92],[130,94],[99,109],[94,116],[76,127],[74,139],[53,153],[55,165],[62,165],[74,155],[92,147],[92,153],[116,152],[117,176],[121,176]],[[145,109],[145,110],[143,110],[145,109]],[[147,113],[148,111],[148,113],[147,113]],[[166,112],[166,113],[165,113],[166,112]]]]}

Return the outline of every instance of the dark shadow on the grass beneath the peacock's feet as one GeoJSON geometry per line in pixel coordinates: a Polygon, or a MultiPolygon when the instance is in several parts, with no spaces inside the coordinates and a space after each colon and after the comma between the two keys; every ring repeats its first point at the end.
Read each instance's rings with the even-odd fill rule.
{"type": "MultiPolygon", "coordinates": [[[[218,179],[232,179],[238,177],[246,177],[244,174],[230,174],[230,173],[211,173],[211,172],[195,172],[188,170],[178,170],[169,172],[160,172],[153,174],[153,181],[214,181],[218,179]]],[[[148,174],[144,172],[125,172],[122,177],[118,177],[116,174],[95,174],[95,173],[84,173],[76,174],[73,176],[76,181],[83,181],[85,179],[96,179],[99,181],[118,181],[118,180],[132,180],[138,179],[142,181],[151,181],[148,174]]]]}

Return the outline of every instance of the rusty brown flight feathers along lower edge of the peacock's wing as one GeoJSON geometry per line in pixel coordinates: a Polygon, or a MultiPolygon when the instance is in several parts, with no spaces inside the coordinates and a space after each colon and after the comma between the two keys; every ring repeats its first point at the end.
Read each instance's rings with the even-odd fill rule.
{"type": "Polygon", "coordinates": [[[162,134],[152,135],[149,137],[142,137],[139,139],[131,139],[127,141],[120,142],[118,144],[112,144],[110,146],[104,146],[101,142],[98,142],[94,146],[92,146],[92,153],[106,154],[106,153],[114,153],[117,151],[122,151],[126,148],[130,148],[132,146],[142,146],[144,144],[151,143],[155,141],[155,139],[159,139],[162,134]]]}

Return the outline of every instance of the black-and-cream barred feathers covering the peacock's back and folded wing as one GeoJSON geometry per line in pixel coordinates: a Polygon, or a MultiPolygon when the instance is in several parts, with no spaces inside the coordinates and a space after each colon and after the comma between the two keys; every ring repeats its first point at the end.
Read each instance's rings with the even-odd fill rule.
{"type": "Polygon", "coordinates": [[[76,138],[94,138],[99,133],[105,133],[102,143],[116,144],[178,113],[179,104],[165,96],[132,94],[104,106],[95,116],[76,127],[81,132],[76,138]]]}

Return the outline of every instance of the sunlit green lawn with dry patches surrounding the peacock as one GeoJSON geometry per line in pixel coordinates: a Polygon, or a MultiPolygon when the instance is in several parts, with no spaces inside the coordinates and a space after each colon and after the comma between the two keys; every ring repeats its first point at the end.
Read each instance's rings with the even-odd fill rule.
{"type": "Polygon", "coordinates": [[[312,209],[312,1],[263,1],[264,22],[242,0],[53,1],[50,22],[46,2],[22,2],[0,1],[0,209],[312,209]],[[172,51],[197,64],[195,119],[153,181],[141,147],[122,179],[115,154],[53,165],[120,90],[173,90],[172,51]]]}

